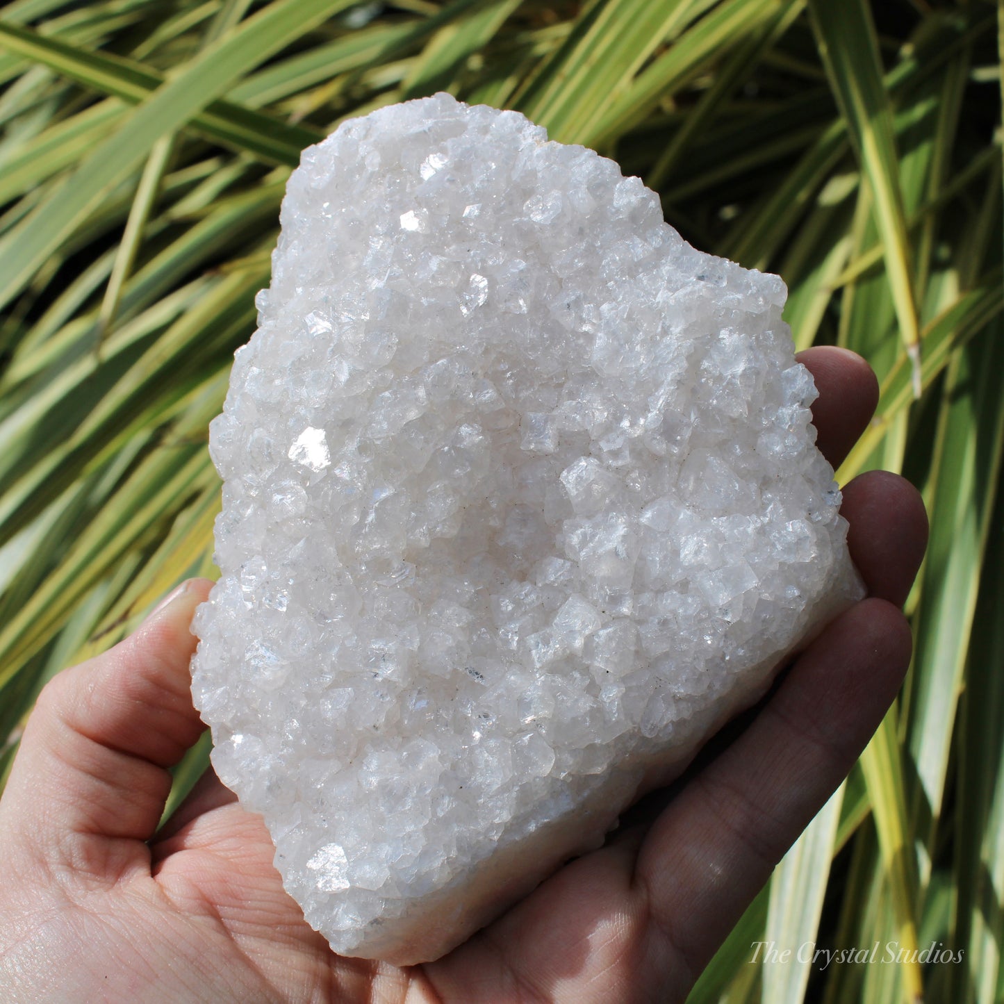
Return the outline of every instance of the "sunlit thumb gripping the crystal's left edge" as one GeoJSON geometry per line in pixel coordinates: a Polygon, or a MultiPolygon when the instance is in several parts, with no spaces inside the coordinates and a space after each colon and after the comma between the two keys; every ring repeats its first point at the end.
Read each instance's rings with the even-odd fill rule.
{"type": "Polygon", "coordinates": [[[186,583],[130,638],[43,689],[2,803],[36,852],[95,873],[146,856],[142,844],[123,844],[154,832],[167,768],[204,728],[192,706],[189,624],[211,585],[186,583]]]}

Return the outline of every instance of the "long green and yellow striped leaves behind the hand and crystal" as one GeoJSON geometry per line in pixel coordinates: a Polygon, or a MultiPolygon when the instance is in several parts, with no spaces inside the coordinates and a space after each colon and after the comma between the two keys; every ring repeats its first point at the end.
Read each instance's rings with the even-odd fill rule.
{"type": "Polygon", "coordinates": [[[841,482],[901,471],[931,513],[901,699],[692,1002],[1004,999],[1002,45],[984,0],[6,4],[0,772],[48,678],[213,572],[206,427],[300,150],[448,89],[779,272],[797,346],[882,382],[841,482]],[[904,953],[764,966],[758,941],[904,953]]]}

